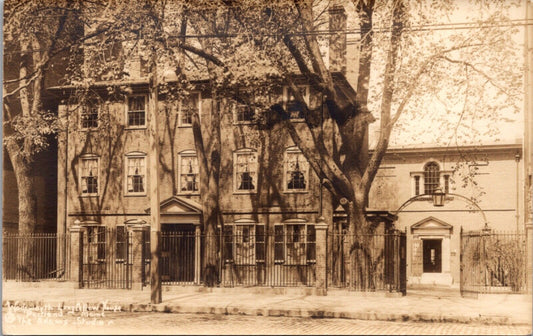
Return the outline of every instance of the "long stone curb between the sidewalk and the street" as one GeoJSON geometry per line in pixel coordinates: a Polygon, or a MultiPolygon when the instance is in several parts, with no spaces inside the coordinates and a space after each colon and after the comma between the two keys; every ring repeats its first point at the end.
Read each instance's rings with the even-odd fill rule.
{"type": "MultiPolygon", "coordinates": [[[[80,303],[77,303],[80,304],[80,303]]],[[[70,302],[47,303],[43,301],[3,300],[2,307],[25,307],[36,308],[49,305],[51,307],[72,306],[70,302]]],[[[81,305],[99,307],[102,302],[84,302],[81,305]]],[[[389,322],[433,322],[433,323],[481,323],[487,325],[529,325],[526,322],[510,321],[508,316],[465,316],[443,315],[431,313],[384,313],[376,311],[334,311],[316,308],[251,308],[235,306],[193,306],[177,304],[151,304],[132,303],[120,304],[118,302],[106,302],[108,307],[119,307],[122,312],[159,312],[172,314],[214,314],[214,315],[243,315],[243,316],[269,316],[269,317],[301,317],[301,318],[341,318],[354,320],[389,321],[389,322]]]]}

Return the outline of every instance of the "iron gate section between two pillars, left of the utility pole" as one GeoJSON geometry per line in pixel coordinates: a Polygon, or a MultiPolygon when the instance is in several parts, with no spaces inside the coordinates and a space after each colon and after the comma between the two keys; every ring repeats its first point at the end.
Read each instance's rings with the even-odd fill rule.
{"type": "Polygon", "coordinates": [[[131,234],[124,226],[82,232],[81,287],[131,289],[131,234]]]}

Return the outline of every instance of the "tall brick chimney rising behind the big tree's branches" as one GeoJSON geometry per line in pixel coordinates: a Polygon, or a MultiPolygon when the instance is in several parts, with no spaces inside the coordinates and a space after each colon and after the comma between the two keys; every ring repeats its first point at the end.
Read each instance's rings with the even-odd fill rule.
{"type": "Polygon", "coordinates": [[[346,74],[346,11],[334,4],[329,8],[329,70],[346,74]]]}

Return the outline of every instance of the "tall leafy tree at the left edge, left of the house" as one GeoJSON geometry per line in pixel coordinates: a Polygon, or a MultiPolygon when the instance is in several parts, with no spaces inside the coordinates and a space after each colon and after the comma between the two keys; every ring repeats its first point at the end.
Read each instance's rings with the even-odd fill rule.
{"type": "Polygon", "coordinates": [[[46,105],[45,81],[57,82],[68,63],[65,52],[79,37],[76,13],[80,4],[59,1],[8,1],[4,7],[4,148],[18,186],[19,233],[36,225],[32,166],[58,129],[46,105]],[[54,64],[56,67],[54,68],[54,64]]]}

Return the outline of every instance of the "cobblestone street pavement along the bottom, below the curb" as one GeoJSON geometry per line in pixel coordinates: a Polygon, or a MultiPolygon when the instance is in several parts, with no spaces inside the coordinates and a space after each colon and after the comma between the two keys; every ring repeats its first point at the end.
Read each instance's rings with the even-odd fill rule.
{"type": "Polygon", "coordinates": [[[531,326],[168,313],[105,312],[104,316],[81,316],[80,313],[40,316],[39,312],[4,311],[3,333],[6,335],[531,335],[531,326]]]}

